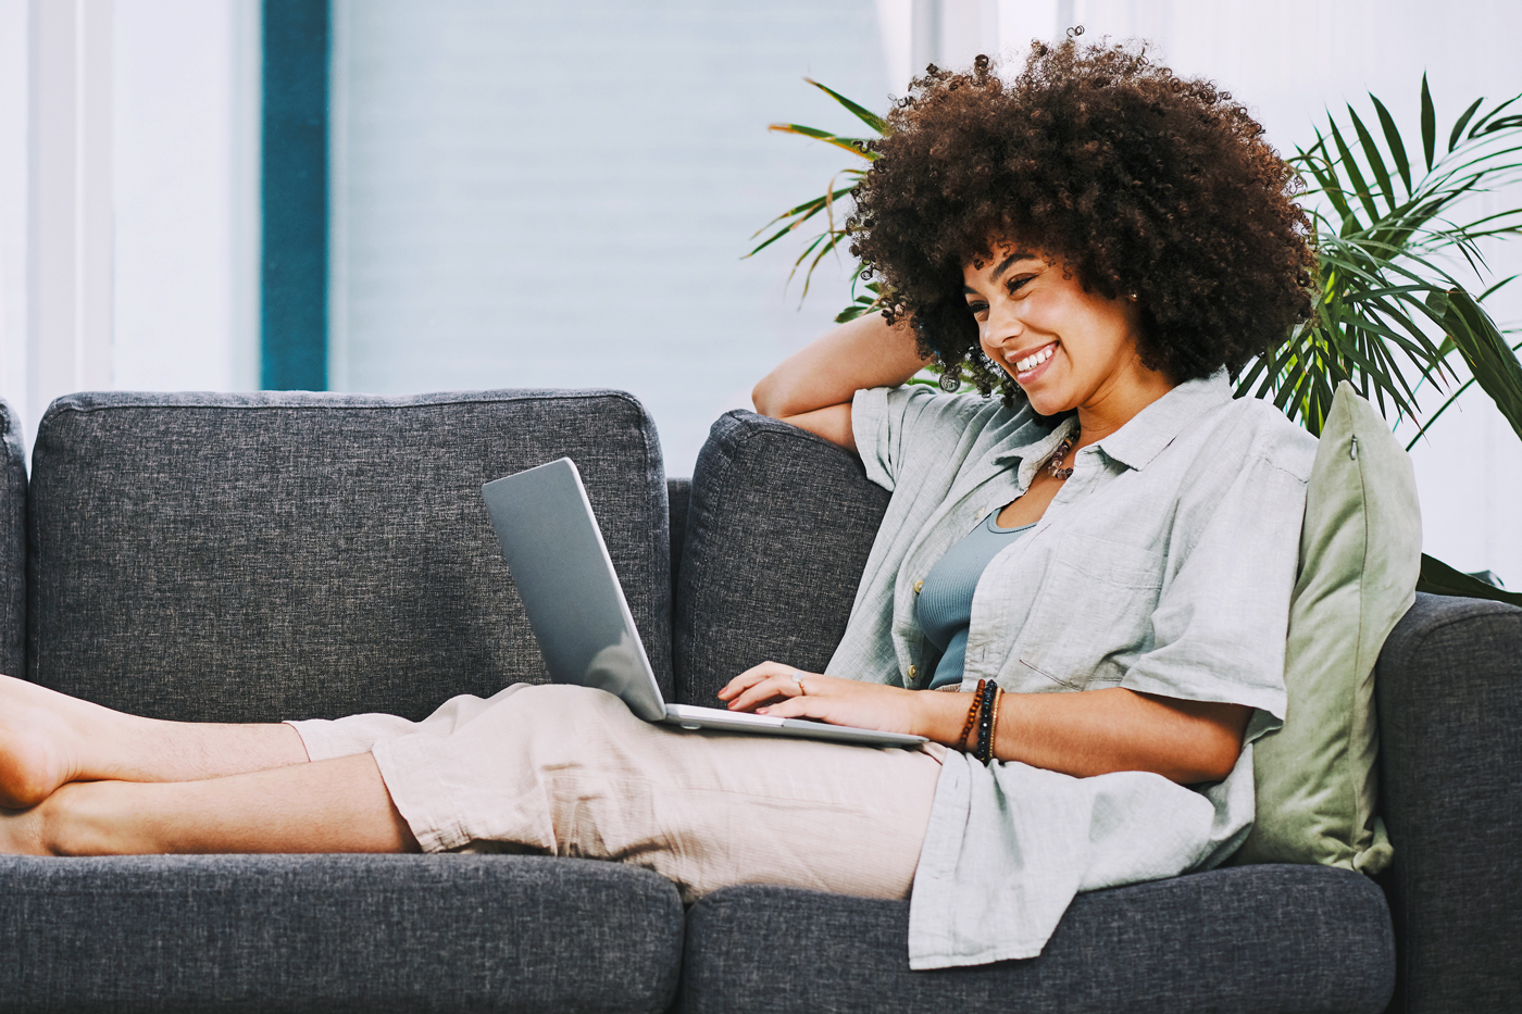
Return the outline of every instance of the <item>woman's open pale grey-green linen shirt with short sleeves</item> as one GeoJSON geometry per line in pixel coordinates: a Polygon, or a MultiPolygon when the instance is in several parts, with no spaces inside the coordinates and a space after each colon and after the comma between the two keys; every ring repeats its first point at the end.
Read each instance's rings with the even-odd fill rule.
{"type": "MultiPolygon", "coordinates": [[[[833,676],[922,687],[915,582],[1024,493],[1076,426],[925,387],[857,391],[868,477],[892,492],[833,676]]],[[[1256,708],[1231,775],[1073,778],[951,752],[915,874],[912,968],[1041,953],[1079,891],[1222,862],[1253,822],[1251,741],[1285,714],[1285,636],[1315,438],[1225,375],[1181,384],[1078,452],[1041,521],[983,571],[963,690],[1128,687],[1256,708]]],[[[1018,708],[1006,697],[1005,708],[1018,708]]]]}

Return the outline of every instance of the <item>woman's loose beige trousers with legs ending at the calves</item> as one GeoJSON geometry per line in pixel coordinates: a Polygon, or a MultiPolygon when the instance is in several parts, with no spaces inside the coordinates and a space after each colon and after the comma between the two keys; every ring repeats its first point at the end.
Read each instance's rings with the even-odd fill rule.
{"type": "Polygon", "coordinates": [[[291,722],[307,755],[374,754],[426,851],[635,863],[683,901],[738,883],[909,895],[945,748],[650,725],[601,690],[517,684],[423,722],[291,722]]]}

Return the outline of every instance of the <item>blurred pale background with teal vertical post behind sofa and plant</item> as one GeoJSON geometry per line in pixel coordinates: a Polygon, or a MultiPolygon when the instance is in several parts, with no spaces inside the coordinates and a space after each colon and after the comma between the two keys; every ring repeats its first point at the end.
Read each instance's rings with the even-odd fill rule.
{"type": "MultiPolygon", "coordinates": [[[[1076,24],[1216,79],[1286,154],[1368,91],[1415,136],[1423,72],[1444,128],[1522,91],[1514,0],[0,0],[0,394],[30,437],[73,390],[616,387],[688,475],[848,301],[845,257],[802,301],[801,245],[741,259],[852,163],[767,132],[861,132],[804,76],[883,110],[1076,24]]],[[[1426,551],[1522,586],[1490,400],[1412,457],[1426,551]]]]}

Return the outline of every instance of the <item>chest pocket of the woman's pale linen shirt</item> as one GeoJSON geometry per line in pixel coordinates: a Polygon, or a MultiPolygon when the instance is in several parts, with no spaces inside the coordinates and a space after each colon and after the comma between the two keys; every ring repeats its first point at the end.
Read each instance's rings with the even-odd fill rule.
{"type": "Polygon", "coordinates": [[[1160,553],[1070,534],[1053,554],[1003,674],[1036,693],[1119,684],[1152,647],[1163,566],[1160,553]]]}

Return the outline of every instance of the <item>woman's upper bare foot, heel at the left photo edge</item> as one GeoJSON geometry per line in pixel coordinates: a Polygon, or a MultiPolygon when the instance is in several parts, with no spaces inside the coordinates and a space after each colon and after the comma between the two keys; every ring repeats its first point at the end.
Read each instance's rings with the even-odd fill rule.
{"type": "Polygon", "coordinates": [[[0,676],[0,810],[33,807],[75,776],[78,732],[65,717],[68,703],[76,702],[0,676]]]}

